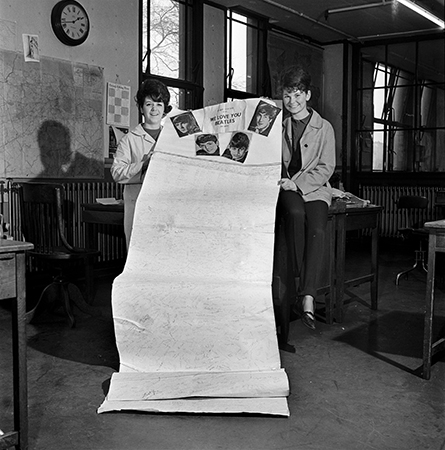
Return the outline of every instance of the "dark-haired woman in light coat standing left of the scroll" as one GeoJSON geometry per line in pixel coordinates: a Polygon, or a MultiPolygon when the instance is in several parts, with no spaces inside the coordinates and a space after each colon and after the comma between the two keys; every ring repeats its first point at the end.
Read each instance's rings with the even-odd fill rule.
{"type": "Polygon", "coordinates": [[[111,175],[124,188],[124,230],[127,249],[133,228],[133,215],[148,163],[161,133],[161,120],[171,110],[170,93],[164,83],[145,80],[135,97],[144,121],[119,142],[111,175]]]}

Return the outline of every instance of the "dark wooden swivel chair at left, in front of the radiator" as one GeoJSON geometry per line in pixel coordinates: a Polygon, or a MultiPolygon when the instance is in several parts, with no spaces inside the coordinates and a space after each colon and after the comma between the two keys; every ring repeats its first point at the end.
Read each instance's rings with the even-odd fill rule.
{"type": "Polygon", "coordinates": [[[27,252],[30,258],[28,263],[52,275],[52,282],[43,289],[36,306],[27,313],[27,322],[49,306],[63,306],[71,327],[75,324],[72,304],[87,314],[100,315],[99,309],[90,305],[93,293],[92,263],[100,252],[74,247],[68,242],[67,230],[72,224],[67,219],[68,215],[64,215],[69,203],[64,201],[63,185],[30,182],[17,187],[22,233],[26,241],[34,244],[34,249],[27,252]],[[84,294],[71,281],[79,268],[85,271],[84,294]]]}

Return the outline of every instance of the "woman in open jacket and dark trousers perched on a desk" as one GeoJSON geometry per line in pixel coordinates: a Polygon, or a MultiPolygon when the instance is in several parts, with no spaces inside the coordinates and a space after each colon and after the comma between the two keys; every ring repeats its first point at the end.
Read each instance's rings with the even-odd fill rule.
{"type": "Polygon", "coordinates": [[[335,137],[331,124],[307,102],[311,77],[291,68],[281,78],[283,106],[282,173],[277,220],[284,219],[293,277],[298,280],[296,306],[304,325],[315,329],[315,296],[319,257],[331,204],[329,178],[335,169],[335,137]]]}

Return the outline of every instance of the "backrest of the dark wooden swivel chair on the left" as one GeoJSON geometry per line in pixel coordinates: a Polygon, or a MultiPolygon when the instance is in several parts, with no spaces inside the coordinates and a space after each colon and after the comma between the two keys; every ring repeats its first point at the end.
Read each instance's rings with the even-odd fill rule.
{"type": "Polygon", "coordinates": [[[22,183],[19,188],[22,234],[34,244],[33,253],[72,251],[63,219],[64,189],[61,184],[22,183]]]}

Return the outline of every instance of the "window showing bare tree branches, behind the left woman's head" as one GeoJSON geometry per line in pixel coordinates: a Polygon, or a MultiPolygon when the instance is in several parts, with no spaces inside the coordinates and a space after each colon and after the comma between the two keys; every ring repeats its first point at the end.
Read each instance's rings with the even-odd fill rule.
{"type": "Polygon", "coordinates": [[[202,2],[141,0],[142,79],[158,78],[180,109],[202,107],[202,2]]]}

